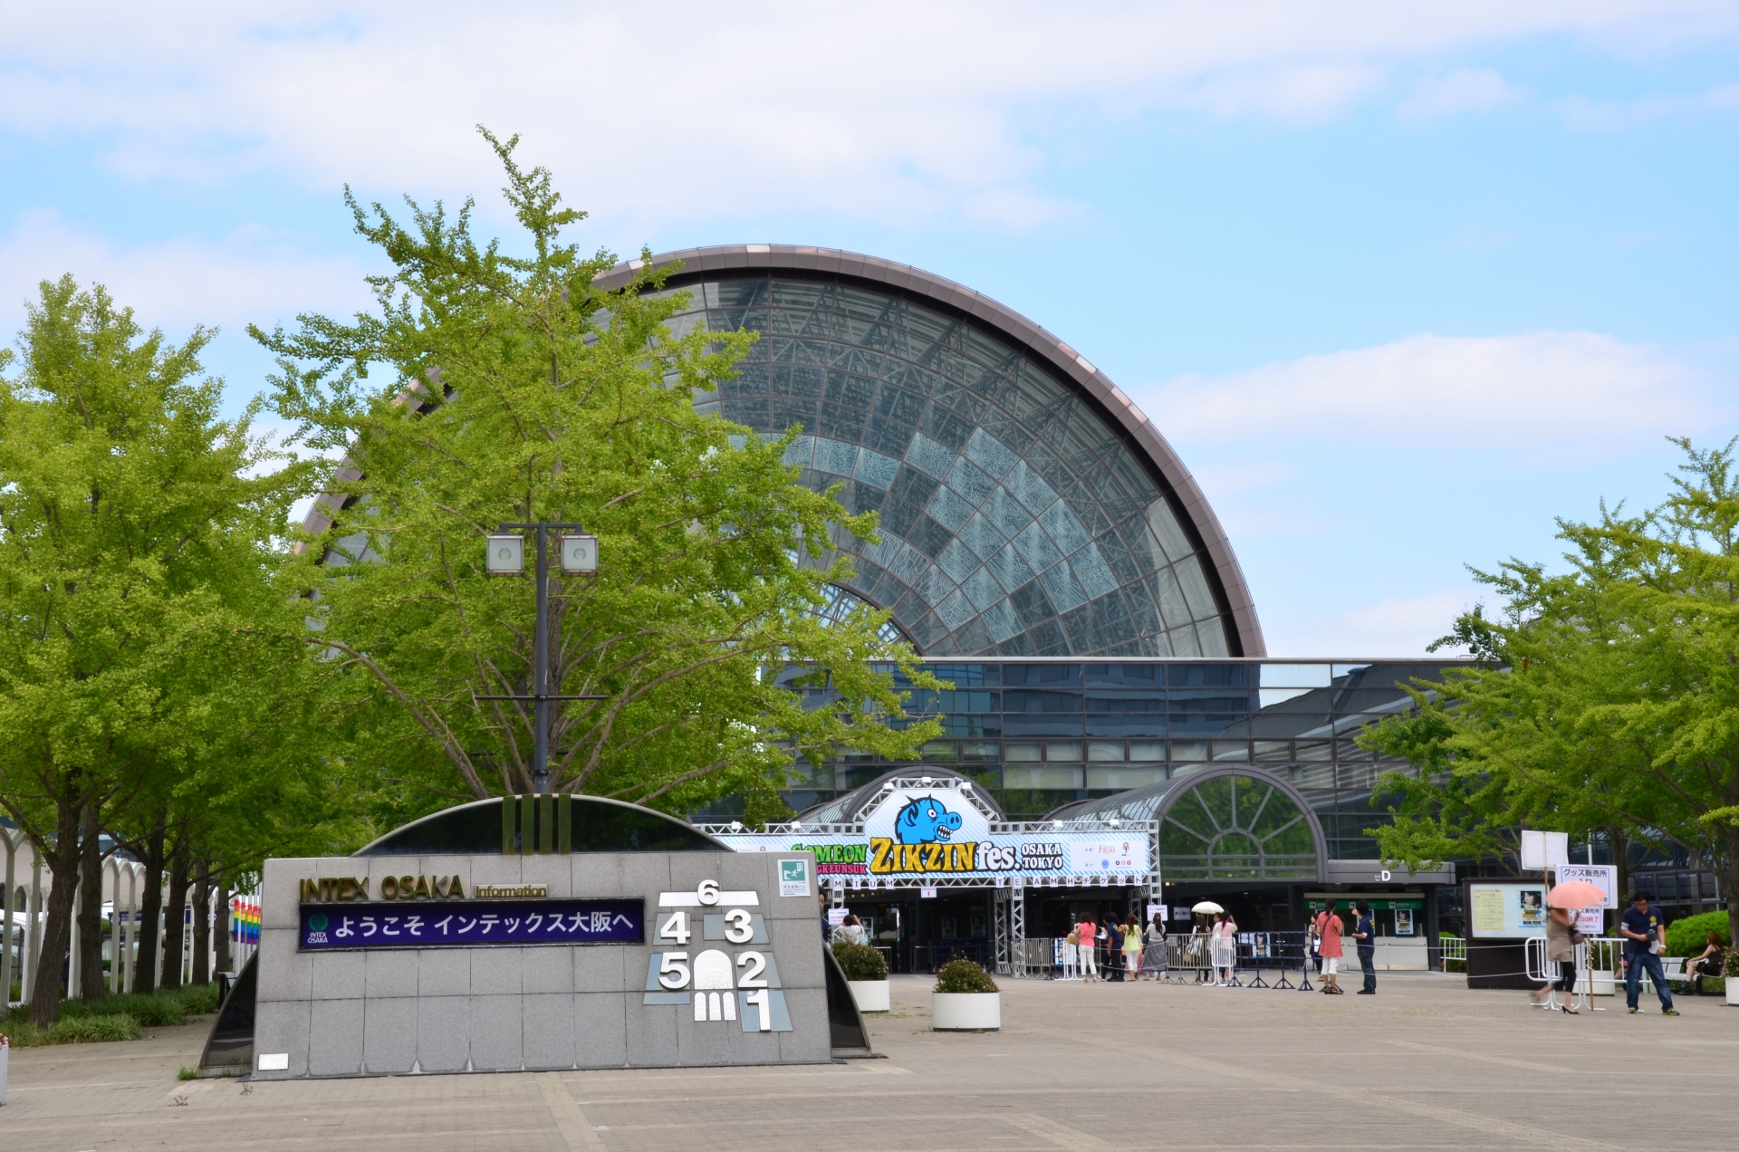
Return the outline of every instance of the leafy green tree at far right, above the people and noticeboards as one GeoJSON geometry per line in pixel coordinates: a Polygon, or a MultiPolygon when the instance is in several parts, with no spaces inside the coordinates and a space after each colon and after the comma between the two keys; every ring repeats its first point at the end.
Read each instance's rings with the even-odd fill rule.
{"type": "MultiPolygon", "coordinates": [[[[1516,827],[1678,847],[1739,884],[1739,484],[1734,442],[1699,451],[1659,506],[1560,520],[1565,571],[1511,560],[1475,573],[1501,618],[1475,609],[1438,644],[1475,668],[1416,684],[1416,715],[1367,731],[1419,780],[1384,780],[1389,860],[1513,851],[1516,827]]],[[[1730,910],[1739,922],[1739,903],[1730,910]]],[[[1736,924],[1739,926],[1739,924],[1736,924]]]]}

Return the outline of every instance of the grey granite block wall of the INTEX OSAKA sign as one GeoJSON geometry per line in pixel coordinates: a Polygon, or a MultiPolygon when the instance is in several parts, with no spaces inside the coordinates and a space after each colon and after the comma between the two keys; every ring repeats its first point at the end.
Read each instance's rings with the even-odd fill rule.
{"type": "MultiPolygon", "coordinates": [[[[791,853],[576,853],[572,856],[337,856],[266,861],[261,891],[259,997],[254,1055],[285,1055],[259,1079],[823,1063],[831,1058],[816,881],[779,896],[779,860],[791,853]],[[640,898],[638,945],[520,945],[299,952],[299,882],[388,875],[459,875],[478,884],[543,884],[550,898],[640,898]],[[791,1032],[744,1032],[696,1021],[687,1004],[643,1004],[657,943],[657,901],[716,881],[758,893],[753,908],[770,943],[791,1032]]],[[[814,868],[810,868],[814,872],[814,868]]],[[[529,901],[534,903],[534,901],[529,901]]],[[[696,914],[699,910],[694,910],[696,914]]],[[[699,940],[699,915],[690,952],[699,940]]]]}

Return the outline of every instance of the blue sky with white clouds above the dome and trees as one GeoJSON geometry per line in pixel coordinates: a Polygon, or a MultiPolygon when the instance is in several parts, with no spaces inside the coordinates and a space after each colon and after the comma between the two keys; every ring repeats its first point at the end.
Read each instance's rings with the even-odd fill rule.
{"type": "Polygon", "coordinates": [[[1739,3],[0,5],[0,329],[365,303],[341,188],[476,195],[523,132],[633,252],[776,240],[988,292],[1116,379],[1276,654],[1410,654],[1739,433],[1739,3]],[[725,23],[729,19],[729,23],[725,23]]]}

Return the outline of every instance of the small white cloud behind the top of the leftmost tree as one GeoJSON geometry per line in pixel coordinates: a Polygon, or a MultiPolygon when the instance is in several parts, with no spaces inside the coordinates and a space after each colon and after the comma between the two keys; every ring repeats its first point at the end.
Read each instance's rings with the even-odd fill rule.
{"type": "Polygon", "coordinates": [[[261,228],[217,242],[179,237],[120,247],[78,231],[50,211],[19,216],[0,238],[0,331],[23,325],[37,284],[71,273],[104,284],[146,327],[223,325],[240,336],[249,322],[290,322],[297,311],[348,311],[367,305],[358,261],[310,256],[261,228]]]}

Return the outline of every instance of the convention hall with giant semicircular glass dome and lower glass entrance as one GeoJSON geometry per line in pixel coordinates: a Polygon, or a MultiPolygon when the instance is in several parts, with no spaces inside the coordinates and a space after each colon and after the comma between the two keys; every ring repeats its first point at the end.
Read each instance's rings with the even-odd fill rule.
{"type": "MultiPolygon", "coordinates": [[[[748,244],[652,263],[680,263],[666,282],[690,294],[678,331],[760,334],[697,407],[763,435],[800,425],[786,459],[805,484],[880,513],[878,543],[840,541],[856,571],[833,611],[887,609],[953,684],[915,693],[915,710],[946,724],[918,760],[800,766],[786,792],[798,818],[755,835],[729,806],[696,823],[739,849],[814,847],[824,874],[836,858],[836,896],[899,924],[899,966],[923,966],[925,948],[989,959],[998,884],[1024,887],[1026,936],[1061,936],[1083,908],[1176,915],[1198,898],[1285,929],[1311,903],[1363,896],[1384,936],[1417,940],[1423,966],[1424,941],[1459,928],[1452,867],[1383,870],[1372,788],[1409,766],[1355,741],[1409,707],[1402,684],[1454,661],[1269,658],[1202,489],[1083,353],[979,292],[870,256],[748,244]],[[951,797],[946,818],[983,818],[986,835],[1144,828],[1151,853],[1143,875],[878,877],[875,813],[920,794],[951,797]]],[[[1662,896],[1701,907],[1709,879],[1662,896]]]]}

